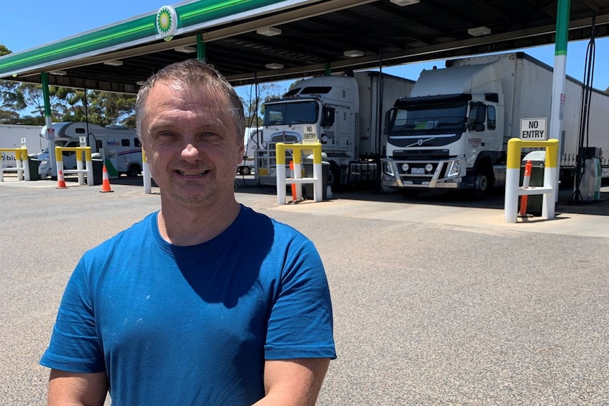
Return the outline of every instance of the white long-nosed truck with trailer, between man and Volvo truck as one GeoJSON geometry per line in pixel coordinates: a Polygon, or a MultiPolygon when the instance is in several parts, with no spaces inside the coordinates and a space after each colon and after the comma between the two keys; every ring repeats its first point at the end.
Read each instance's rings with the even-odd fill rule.
{"type": "Polygon", "coordinates": [[[384,109],[409,95],[413,84],[378,71],[316,76],[301,80],[279,100],[264,103],[261,140],[254,155],[259,183],[276,184],[275,145],[302,143],[305,126],[313,126],[329,163],[328,186],[377,181],[385,145],[384,109]]]}

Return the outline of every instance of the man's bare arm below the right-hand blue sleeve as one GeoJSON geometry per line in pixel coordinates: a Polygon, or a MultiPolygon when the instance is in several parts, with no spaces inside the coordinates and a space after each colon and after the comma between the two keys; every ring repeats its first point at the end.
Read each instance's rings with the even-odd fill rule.
{"type": "Polygon", "coordinates": [[[254,406],[314,406],[329,364],[329,358],[266,361],[266,396],[254,406]]]}

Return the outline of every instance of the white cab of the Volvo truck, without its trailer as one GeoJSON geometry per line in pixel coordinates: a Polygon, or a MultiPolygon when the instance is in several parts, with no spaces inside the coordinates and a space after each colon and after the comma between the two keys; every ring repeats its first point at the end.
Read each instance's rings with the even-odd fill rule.
{"type": "Polygon", "coordinates": [[[474,189],[482,197],[501,184],[504,106],[495,66],[423,71],[413,95],[389,111],[382,185],[405,194],[474,189]]]}

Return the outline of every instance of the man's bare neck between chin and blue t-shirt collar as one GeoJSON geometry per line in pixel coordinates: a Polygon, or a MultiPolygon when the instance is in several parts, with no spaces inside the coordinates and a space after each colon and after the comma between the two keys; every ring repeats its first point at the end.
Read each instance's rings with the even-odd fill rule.
{"type": "Polygon", "coordinates": [[[179,246],[201,244],[217,237],[232,225],[241,209],[236,201],[213,208],[171,207],[161,208],[158,229],[163,239],[179,246]]]}

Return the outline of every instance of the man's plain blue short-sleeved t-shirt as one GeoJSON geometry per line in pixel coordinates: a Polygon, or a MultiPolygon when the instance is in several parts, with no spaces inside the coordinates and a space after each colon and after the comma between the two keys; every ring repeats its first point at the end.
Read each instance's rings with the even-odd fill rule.
{"type": "Polygon", "coordinates": [[[241,207],[218,237],[162,239],[157,213],[83,255],[40,364],[106,371],[113,405],[252,405],[265,359],[335,358],[309,239],[241,207]]]}

